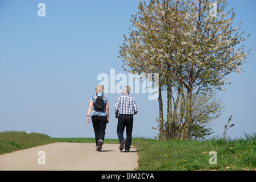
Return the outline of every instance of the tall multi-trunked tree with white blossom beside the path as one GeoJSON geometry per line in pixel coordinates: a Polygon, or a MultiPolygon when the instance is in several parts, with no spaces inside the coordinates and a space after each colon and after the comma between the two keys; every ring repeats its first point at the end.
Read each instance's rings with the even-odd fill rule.
{"type": "Polygon", "coordinates": [[[159,130],[178,132],[191,139],[193,100],[198,93],[222,89],[231,72],[241,73],[249,55],[239,46],[241,24],[233,27],[233,9],[225,0],[151,0],[139,4],[132,16],[130,37],[125,37],[120,56],[132,73],[159,73],[159,130]],[[164,126],[161,89],[168,98],[164,126]],[[176,99],[174,99],[174,91],[176,99]],[[181,109],[185,108],[182,113],[181,109]]]}

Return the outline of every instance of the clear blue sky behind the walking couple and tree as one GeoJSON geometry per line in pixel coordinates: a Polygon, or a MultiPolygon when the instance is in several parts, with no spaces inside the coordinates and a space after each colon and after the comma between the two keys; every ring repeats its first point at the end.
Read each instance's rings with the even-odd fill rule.
{"type": "MultiPolygon", "coordinates": [[[[50,137],[94,137],[86,122],[90,97],[100,73],[123,71],[119,46],[128,35],[131,15],[139,1],[48,1],[2,0],[0,2],[0,131],[33,131],[50,137]],[[45,3],[46,16],[39,17],[38,3],[45,3]]],[[[256,132],[255,122],[255,27],[256,1],[230,0],[234,25],[251,34],[245,47],[250,58],[244,73],[229,75],[231,85],[218,92],[226,112],[214,121],[214,134],[221,135],[233,115],[231,137],[256,132]]],[[[118,81],[115,82],[117,84],[118,81]]],[[[110,122],[106,138],[117,138],[114,104],[118,93],[106,93],[110,122]]],[[[164,94],[165,95],[165,94],[164,94]]],[[[148,94],[132,94],[139,113],[134,117],[133,135],[154,137],[158,101],[148,94]]],[[[166,105],[164,105],[166,110],[166,105]]]]}

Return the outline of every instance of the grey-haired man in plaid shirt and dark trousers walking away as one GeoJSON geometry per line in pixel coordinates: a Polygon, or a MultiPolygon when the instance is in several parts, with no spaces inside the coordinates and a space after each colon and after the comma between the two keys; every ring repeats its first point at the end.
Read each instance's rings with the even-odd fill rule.
{"type": "Polygon", "coordinates": [[[133,131],[133,115],[138,113],[138,106],[135,98],[130,96],[130,86],[123,87],[123,95],[115,102],[115,118],[118,118],[117,135],[120,142],[119,150],[129,152],[131,147],[131,133],[133,131]],[[123,138],[123,131],[126,127],[126,141],[123,138]]]}

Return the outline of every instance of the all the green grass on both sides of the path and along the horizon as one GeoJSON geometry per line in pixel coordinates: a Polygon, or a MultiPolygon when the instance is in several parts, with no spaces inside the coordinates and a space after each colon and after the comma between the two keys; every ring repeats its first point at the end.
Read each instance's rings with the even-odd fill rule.
{"type": "MultiPolygon", "coordinates": [[[[94,143],[94,138],[50,138],[18,131],[0,133],[0,154],[54,142],[94,143]]],[[[105,139],[104,143],[119,143],[105,139]]],[[[159,141],[134,138],[139,155],[138,171],[256,170],[256,134],[234,140],[159,141]],[[215,151],[214,155],[209,155],[215,151]],[[213,163],[213,164],[210,164],[213,163]]]]}

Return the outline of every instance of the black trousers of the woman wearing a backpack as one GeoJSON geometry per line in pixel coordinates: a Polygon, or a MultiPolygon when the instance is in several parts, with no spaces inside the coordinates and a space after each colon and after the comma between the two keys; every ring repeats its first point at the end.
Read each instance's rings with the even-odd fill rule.
{"type": "Polygon", "coordinates": [[[95,134],[95,142],[98,145],[98,140],[103,140],[105,138],[105,130],[107,126],[107,117],[100,115],[93,115],[91,117],[91,121],[93,122],[93,129],[95,134]]]}

